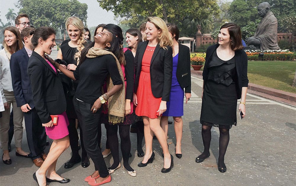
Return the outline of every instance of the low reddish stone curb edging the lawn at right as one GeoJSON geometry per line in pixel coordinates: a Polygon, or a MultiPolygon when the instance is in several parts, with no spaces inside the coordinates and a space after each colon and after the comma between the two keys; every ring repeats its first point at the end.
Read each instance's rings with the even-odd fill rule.
{"type": "MultiPolygon", "coordinates": [[[[202,76],[202,71],[191,70],[191,74],[197,74],[199,76],[202,76]]],[[[290,92],[268,88],[253,83],[249,83],[248,89],[296,102],[296,94],[290,92]]]]}

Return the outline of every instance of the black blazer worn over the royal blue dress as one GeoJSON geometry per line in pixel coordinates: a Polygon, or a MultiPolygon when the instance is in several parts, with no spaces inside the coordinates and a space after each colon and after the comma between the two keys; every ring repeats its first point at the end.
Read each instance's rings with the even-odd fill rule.
{"type": "Polygon", "coordinates": [[[176,76],[185,93],[191,93],[190,49],[180,43],[176,76]]]}

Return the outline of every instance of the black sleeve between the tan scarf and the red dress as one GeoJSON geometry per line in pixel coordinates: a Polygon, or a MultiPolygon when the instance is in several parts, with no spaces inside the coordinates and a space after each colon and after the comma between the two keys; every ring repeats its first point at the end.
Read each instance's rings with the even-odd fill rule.
{"type": "Polygon", "coordinates": [[[126,74],[124,79],[126,81],[126,99],[133,100],[135,63],[131,50],[126,50],[126,52],[124,53],[124,58],[126,60],[126,66],[124,66],[124,71],[126,74]]]}

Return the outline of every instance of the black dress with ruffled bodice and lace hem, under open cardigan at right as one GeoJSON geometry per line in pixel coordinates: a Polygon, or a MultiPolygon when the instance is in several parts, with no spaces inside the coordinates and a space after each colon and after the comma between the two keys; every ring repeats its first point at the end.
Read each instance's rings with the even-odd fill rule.
{"type": "Polygon", "coordinates": [[[230,129],[237,124],[237,79],[234,57],[223,61],[213,53],[205,80],[200,123],[230,129]]]}

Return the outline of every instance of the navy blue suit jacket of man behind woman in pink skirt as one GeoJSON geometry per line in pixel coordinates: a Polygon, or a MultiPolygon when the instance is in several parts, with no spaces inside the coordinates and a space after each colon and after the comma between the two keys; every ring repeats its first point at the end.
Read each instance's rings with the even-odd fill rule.
{"type": "Polygon", "coordinates": [[[9,65],[12,78],[12,88],[15,94],[17,106],[21,107],[22,105],[28,103],[33,109],[35,105],[33,102],[31,81],[27,72],[28,61],[29,56],[24,47],[11,55],[9,65]]]}

